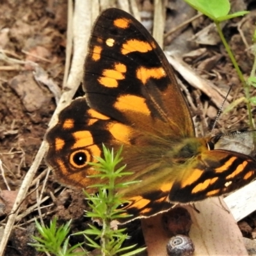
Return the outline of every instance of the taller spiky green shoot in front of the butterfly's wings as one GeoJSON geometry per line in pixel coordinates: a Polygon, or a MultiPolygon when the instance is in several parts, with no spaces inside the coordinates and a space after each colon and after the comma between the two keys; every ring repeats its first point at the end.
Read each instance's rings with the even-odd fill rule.
{"type": "MultiPolygon", "coordinates": [[[[106,179],[108,182],[106,184],[96,184],[93,187],[99,189],[97,195],[89,195],[84,192],[86,199],[89,201],[90,208],[92,211],[86,211],[86,216],[99,220],[102,223],[102,229],[90,225],[90,229],[80,232],[79,234],[84,234],[88,241],[88,245],[93,248],[100,249],[102,256],[112,256],[117,253],[127,252],[132,250],[135,244],[128,247],[122,247],[125,239],[129,238],[125,234],[125,228],[113,230],[111,228],[111,221],[116,218],[125,218],[124,211],[118,209],[119,205],[124,204],[121,196],[116,194],[116,189],[125,188],[131,184],[137,183],[132,182],[122,182],[116,184],[116,178],[124,177],[125,175],[131,175],[131,172],[124,172],[125,166],[116,167],[122,161],[121,157],[122,148],[120,148],[116,154],[114,154],[113,149],[109,150],[103,145],[104,158],[97,157],[98,163],[91,163],[95,170],[99,171],[98,175],[93,175],[93,177],[106,179]],[[89,235],[95,236],[95,239],[100,239],[100,245],[95,243],[89,235]]],[[[122,254],[123,256],[130,256],[136,253],[142,252],[145,248],[140,248],[133,250],[132,252],[127,252],[122,254]]],[[[120,254],[121,255],[121,254],[120,254]]]]}

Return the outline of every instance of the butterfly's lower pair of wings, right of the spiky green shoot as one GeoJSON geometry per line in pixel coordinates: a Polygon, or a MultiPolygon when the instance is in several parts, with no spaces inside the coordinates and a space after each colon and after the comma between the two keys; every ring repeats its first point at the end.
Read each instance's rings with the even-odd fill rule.
{"type": "Polygon", "coordinates": [[[147,218],[168,211],[175,204],[226,195],[256,177],[253,157],[228,150],[204,150],[188,162],[185,166],[161,164],[156,169],[158,175],[154,181],[150,180],[149,172],[148,179],[135,184],[132,189],[120,191],[130,202],[123,209],[132,214],[131,218],[120,222],[147,218]]]}

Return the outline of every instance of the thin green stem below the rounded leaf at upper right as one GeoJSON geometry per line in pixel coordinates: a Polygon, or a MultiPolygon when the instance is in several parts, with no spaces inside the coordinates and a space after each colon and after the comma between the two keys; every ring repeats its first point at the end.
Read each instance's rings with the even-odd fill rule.
{"type": "Polygon", "coordinates": [[[226,51],[228,52],[228,56],[230,57],[230,60],[232,61],[234,67],[236,68],[236,72],[238,74],[238,77],[239,77],[241,83],[243,84],[244,94],[245,94],[245,97],[246,97],[246,106],[247,106],[247,109],[248,109],[250,128],[255,129],[254,124],[253,124],[253,119],[252,119],[252,108],[251,108],[251,105],[250,105],[250,101],[248,100],[248,99],[250,99],[249,86],[246,83],[246,81],[244,80],[244,76],[243,76],[239,66],[237,65],[236,59],[234,58],[234,55],[233,55],[233,53],[232,53],[224,35],[222,33],[222,30],[220,28],[220,22],[215,20],[214,23],[216,24],[216,28],[217,28],[217,31],[220,35],[221,41],[223,42],[223,45],[225,46],[226,51]]]}

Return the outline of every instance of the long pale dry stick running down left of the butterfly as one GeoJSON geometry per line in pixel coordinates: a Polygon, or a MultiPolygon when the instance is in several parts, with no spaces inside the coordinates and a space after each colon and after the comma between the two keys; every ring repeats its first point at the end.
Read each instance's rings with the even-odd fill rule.
{"type": "MultiPolygon", "coordinates": [[[[61,96],[60,104],[58,104],[54,115],[52,116],[51,124],[56,122],[58,119],[58,113],[63,109],[64,106],[67,106],[68,102],[72,99],[74,93],[79,86],[82,77],[83,77],[83,64],[84,58],[86,55],[87,42],[90,35],[90,29],[92,27],[92,21],[88,19],[90,17],[90,10],[92,10],[92,1],[90,0],[77,0],[75,2],[75,10],[74,10],[74,55],[72,60],[72,65],[70,68],[70,75],[67,80],[67,88],[70,88],[69,91],[66,91],[61,96]]],[[[6,223],[6,227],[4,229],[3,238],[0,244],[0,256],[3,256],[4,248],[7,244],[8,238],[12,232],[13,225],[17,218],[17,214],[19,212],[19,206],[22,200],[26,197],[26,193],[28,191],[29,185],[35,176],[36,170],[40,165],[45,150],[47,149],[47,145],[45,141],[40,146],[38,153],[35,156],[35,161],[31,164],[31,168],[29,168],[24,180],[20,186],[19,193],[13,205],[12,214],[8,216],[8,221],[6,223]]]]}

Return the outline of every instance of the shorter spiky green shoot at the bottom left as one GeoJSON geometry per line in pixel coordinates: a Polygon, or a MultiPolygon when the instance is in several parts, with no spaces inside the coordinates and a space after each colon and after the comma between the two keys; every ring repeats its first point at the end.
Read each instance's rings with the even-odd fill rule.
{"type": "Polygon", "coordinates": [[[59,228],[56,227],[56,221],[57,218],[53,218],[50,226],[45,227],[35,220],[40,237],[32,236],[36,243],[29,243],[29,245],[34,246],[38,252],[52,253],[56,256],[85,255],[84,252],[73,252],[77,247],[81,247],[82,244],[76,244],[72,247],[68,245],[68,233],[72,220],[59,228]]]}

